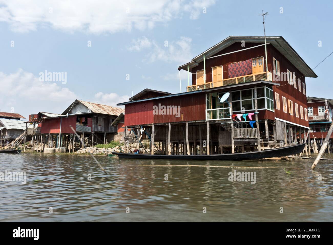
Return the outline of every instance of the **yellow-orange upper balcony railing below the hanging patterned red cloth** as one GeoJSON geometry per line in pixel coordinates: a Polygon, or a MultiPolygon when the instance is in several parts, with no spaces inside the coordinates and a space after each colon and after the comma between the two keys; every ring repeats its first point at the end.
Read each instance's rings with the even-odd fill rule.
{"type": "Polygon", "coordinates": [[[200,85],[192,85],[192,86],[187,87],[187,92],[200,90],[200,89],[228,86],[228,85],[239,84],[239,83],[248,83],[248,82],[260,81],[260,80],[272,81],[272,73],[271,72],[261,72],[261,73],[246,75],[246,76],[227,78],[227,79],[223,79],[222,81],[209,82],[209,83],[204,83],[204,84],[200,84],[200,85]]]}

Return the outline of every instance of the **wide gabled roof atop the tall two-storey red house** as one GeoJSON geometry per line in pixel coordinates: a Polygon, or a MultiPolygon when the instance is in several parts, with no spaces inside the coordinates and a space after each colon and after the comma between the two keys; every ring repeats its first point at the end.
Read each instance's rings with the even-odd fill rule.
{"type": "MultiPolygon", "coordinates": [[[[187,71],[187,65],[189,70],[196,67],[201,61],[203,61],[203,55],[205,59],[213,56],[214,54],[220,52],[221,50],[227,48],[231,44],[237,42],[250,42],[250,43],[264,43],[264,37],[262,36],[229,36],[213,47],[207,49],[203,53],[194,57],[190,62],[179,66],[180,69],[187,71]]],[[[266,36],[266,43],[270,43],[275,47],[282,55],[284,55],[300,72],[302,72],[305,77],[318,77],[313,70],[305,63],[305,61],[296,53],[296,51],[284,40],[281,36],[266,36]]]]}

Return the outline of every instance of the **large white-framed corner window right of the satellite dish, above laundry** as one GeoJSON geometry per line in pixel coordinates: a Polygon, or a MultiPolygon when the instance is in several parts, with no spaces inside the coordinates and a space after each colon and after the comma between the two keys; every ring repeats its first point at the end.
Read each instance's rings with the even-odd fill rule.
{"type": "MultiPolygon", "coordinates": [[[[243,89],[231,92],[232,111],[251,111],[254,106],[254,89],[243,89]]],[[[257,88],[258,110],[274,111],[273,90],[270,87],[257,88]]]]}

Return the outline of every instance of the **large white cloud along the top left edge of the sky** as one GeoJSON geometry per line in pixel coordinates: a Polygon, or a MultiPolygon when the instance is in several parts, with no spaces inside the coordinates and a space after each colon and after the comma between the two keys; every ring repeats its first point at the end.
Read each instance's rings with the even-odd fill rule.
{"type": "Polygon", "coordinates": [[[52,26],[65,31],[100,34],[145,30],[175,18],[197,19],[215,0],[0,0],[0,21],[13,31],[52,26]],[[52,9],[51,9],[52,8],[52,9]]]}

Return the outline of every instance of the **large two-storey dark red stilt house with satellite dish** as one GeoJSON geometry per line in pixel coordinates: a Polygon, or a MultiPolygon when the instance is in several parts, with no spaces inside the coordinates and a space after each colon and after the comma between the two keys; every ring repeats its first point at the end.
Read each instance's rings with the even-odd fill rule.
{"type": "Polygon", "coordinates": [[[185,93],[118,104],[125,126],[145,126],[169,154],[179,146],[214,154],[296,143],[296,133],[309,129],[305,77],[317,75],[283,37],[266,37],[266,50],[264,37],[227,37],[178,68],[188,72],[185,93]]]}

